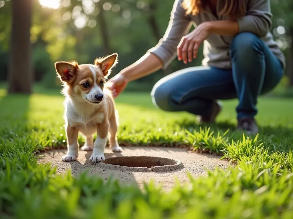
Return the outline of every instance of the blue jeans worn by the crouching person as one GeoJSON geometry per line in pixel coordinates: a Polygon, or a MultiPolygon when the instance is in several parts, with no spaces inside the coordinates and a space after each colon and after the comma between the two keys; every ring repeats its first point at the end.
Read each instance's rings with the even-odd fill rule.
{"type": "Polygon", "coordinates": [[[237,117],[254,117],[258,96],[279,83],[283,66],[258,36],[248,32],[234,37],[230,55],[232,69],[190,67],[162,78],[151,92],[154,104],[205,116],[214,101],[238,98],[237,117]]]}

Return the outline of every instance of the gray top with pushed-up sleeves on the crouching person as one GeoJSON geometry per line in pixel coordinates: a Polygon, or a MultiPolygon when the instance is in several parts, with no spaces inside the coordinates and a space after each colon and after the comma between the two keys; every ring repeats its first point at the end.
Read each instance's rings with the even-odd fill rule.
{"type": "MultiPolygon", "coordinates": [[[[280,51],[277,43],[274,41],[270,29],[272,26],[272,13],[270,12],[269,0],[243,0],[247,3],[246,16],[238,19],[239,32],[251,32],[259,36],[265,44],[269,46],[271,51],[282,62],[285,68],[285,57],[280,51]]],[[[210,9],[199,13],[196,16],[185,15],[185,10],[181,6],[182,0],[175,0],[171,12],[171,18],[164,34],[159,43],[151,48],[148,52],[153,53],[163,62],[163,69],[170,64],[176,57],[177,46],[183,36],[188,34],[191,24],[199,25],[205,21],[225,20],[219,12],[224,6],[224,1],[219,0],[217,4],[216,18],[210,9]]],[[[233,36],[221,36],[218,34],[210,34],[204,41],[204,59],[202,65],[214,66],[222,69],[231,68],[231,58],[229,47],[233,36]]]]}

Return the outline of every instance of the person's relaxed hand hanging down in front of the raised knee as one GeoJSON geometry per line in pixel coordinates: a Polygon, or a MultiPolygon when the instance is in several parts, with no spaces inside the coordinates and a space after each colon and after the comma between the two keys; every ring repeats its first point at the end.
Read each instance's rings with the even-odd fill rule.
{"type": "Polygon", "coordinates": [[[178,60],[183,60],[184,64],[191,62],[197,57],[197,51],[200,44],[209,36],[208,22],[203,22],[198,25],[193,31],[186,36],[183,36],[177,46],[178,60]]]}

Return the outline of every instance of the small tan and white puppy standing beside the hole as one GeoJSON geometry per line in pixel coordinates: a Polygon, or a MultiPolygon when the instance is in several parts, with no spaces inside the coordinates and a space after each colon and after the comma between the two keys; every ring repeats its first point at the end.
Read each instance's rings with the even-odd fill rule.
{"type": "Polygon", "coordinates": [[[78,134],[86,138],[81,150],[93,150],[89,161],[104,161],[104,150],[108,132],[109,144],[113,152],[121,152],[116,133],[117,115],[115,102],[109,92],[104,89],[105,79],[112,67],[117,64],[117,54],[105,58],[97,58],[94,65],[79,65],[77,62],[56,62],[55,68],[64,84],[63,94],[67,135],[67,154],[62,161],[75,161],[78,157],[78,134]],[[93,134],[97,133],[93,142],[93,134]]]}

